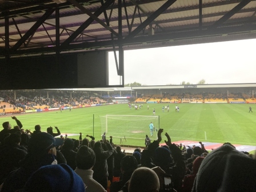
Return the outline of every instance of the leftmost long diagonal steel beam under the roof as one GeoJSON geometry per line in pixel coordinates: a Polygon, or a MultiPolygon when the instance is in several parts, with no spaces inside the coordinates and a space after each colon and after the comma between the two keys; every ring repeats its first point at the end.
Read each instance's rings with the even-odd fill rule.
{"type": "Polygon", "coordinates": [[[10,51],[15,51],[17,50],[26,40],[29,38],[35,31],[38,29],[39,26],[42,25],[43,22],[51,15],[53,14],[54,9],[49,9],[45,12],[45,14],[42,15],[42,17],[35,22],[35,24],[23,35],[21,39],[11,48],[10,51]]]}

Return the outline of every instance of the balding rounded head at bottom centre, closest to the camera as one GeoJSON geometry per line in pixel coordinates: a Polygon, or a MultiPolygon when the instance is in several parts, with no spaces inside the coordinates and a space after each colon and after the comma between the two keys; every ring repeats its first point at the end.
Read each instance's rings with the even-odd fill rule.
{"type": "Polygon", "coordinates": [[[157,174],[147,168],[140,167],[131,175],[129,192],[157,192],[159,191],[159,178],[157,174]]]}

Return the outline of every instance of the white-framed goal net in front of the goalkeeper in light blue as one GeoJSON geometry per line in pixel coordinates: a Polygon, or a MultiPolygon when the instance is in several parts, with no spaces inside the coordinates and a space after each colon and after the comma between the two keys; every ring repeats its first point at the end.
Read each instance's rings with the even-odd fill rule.
{"type": "Polygon", "coordinates": [[[145,139],[145,135],[150,135],[151,122],[155,127],[153,137],[157,137],[159,129],[159,116],[105,115],[100,119],[102,133],[106,132],[117,138],[145,139]]]}

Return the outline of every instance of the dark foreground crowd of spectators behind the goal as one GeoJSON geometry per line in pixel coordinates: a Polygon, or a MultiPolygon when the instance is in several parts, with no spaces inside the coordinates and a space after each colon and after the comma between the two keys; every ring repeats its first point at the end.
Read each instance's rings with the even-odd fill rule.
{"type": "MultiPolygon", "coordinates": [[[[209,153],[202,142],[171,142],[163,129],[146,149],[126,154],[114,138],[63,137],[58,127],[24,130],[3,122],[0,131],[0,191],[255,191],[254,155],[224,143],[209,153]],[[55,138],[59,136],[58,138],[55,138]],[[110,185],[109,185],[110,183],[110,185]]],[[[106,136],[106,135],[105,135],[106,136]]]]}

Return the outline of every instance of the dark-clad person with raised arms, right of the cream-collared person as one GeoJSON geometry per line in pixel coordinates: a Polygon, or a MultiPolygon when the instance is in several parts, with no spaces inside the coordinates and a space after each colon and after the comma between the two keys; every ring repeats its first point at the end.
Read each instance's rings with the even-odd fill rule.
{"type": "Polygon", "coordinates": [[[114,150],[108,141],[105,140],[103,142],[106,144],[106,147],[108,149],[107,151],[104,151],[102,149],[102,144],[99,141],[95,142],[95,145],[93,147],[96,155],[96,161],[93,167],[93,178],[97,182],[99,182],[104,187],[104,189],[107,189],[107,176],[109,176],[109,174],[107,173],[107,158],[109,158],[110,155],[113,154],[114,150]]]}

